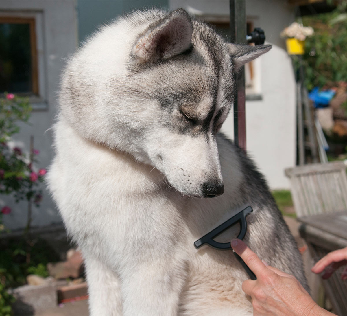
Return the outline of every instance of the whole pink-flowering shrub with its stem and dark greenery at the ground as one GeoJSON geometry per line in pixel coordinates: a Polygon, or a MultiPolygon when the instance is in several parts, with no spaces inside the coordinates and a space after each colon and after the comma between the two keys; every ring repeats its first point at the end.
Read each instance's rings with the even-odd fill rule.
{"type": "MultiPolygon", "coordinates": [[[[29,234],[31,207],[32,204],[40,205],[42,192],[39,183],[46,174],[45,169],[36,172],[33,168],[35,156],[40,152],[31,149],[27,157],[19,147],[11,149],[8,145],[11,136],[19,132],[16,123],[27,122],[31,110],[27,98],[20,98],[12,93],[5,93],[5,98],[0,98],[0,194],[13,196],[16,202],[28,201],[24,239],[9,241],[6,248],[0,245],[0,315],[12,315],[11,303],[14,302],[14,297],[7,293],[7,288],[24,284],[25,277],[30,273],[46,276],[45,264],[53,259],[52,256],[42,255],[42,249],[46,249],[46,245],[31,239],[29,234]]],[[[5,229],[2,216],[10,213],[9,206],[0,209],[0,233],[5,229]]]]}

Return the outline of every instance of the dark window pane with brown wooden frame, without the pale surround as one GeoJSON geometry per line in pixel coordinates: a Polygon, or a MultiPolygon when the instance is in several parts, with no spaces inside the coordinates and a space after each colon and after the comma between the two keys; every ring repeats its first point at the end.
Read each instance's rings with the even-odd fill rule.
{"type": "Polygon", "coordinates": [[[0,17],[0,93],[38,95],[35,19],[0,17]]]}

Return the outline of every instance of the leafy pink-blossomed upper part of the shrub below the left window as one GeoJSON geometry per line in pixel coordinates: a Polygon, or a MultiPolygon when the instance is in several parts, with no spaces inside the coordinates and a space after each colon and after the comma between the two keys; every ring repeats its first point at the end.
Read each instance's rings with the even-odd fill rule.
{"type": "MultiPolygon", "coordinates": [[[[39,206],[42,200],[39,183],[43,181],[46,173],[45,169],[40,169],[38,172],[33,169],[33,162],[39,151],[33,149],[29,157],[26,157],[19,147],[11,149],[8,146],[11,135],[19,132],[16,123],[27,122],[31,110],[27,98],[8,93],[5,94],[5,98],[0,99],[0,194],[11,195],[16,202],[27,200],[39,206]]],[[[1,216],[9,213],[11,213],[10,207],[1,208],[0,225],[1,216]]],[[[4,228],[3,225],[0,231],[1,228],[4,228]]]]}

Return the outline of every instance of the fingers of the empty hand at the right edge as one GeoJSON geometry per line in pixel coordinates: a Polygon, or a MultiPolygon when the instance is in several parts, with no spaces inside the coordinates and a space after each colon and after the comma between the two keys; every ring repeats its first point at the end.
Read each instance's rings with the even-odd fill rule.
{"type": "MultiPolygon", "coordinates": [[[[347,247],[329,252],[312,267],[311,271],[317,274],[324,271],[322,278],[327,279],[343,265],[347,265],[347,247]]],[[[342,272],[341,279],[347,280],[347,267],[342,272]]]]}

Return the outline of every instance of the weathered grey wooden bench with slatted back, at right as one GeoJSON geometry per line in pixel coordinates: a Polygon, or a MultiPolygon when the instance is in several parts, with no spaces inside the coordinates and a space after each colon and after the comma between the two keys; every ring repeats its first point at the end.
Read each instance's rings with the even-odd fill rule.
{"type": "MultiPolygon", "coordinates": [[[[313,263],[330,251],[347,246],[347,176],[342,162],[288,168],[291,194],[299,231],[313,263]]],[[[347,315],[347,284],[339,268],[328,280],[321,280],[333,311],[347,315]]],[[[312,289],[315,290],[315,289],[312,289]]]]}

